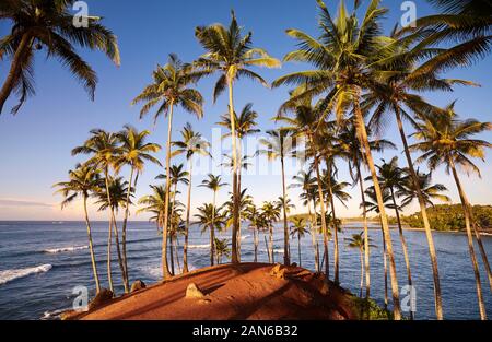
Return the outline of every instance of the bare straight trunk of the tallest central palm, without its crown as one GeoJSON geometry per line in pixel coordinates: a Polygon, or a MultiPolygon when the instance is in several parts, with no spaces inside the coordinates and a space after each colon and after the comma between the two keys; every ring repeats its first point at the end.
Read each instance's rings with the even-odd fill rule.
{"type": "Polygon", "coordinates": [[[239,202],[237,193],[237,149],[236,149],[236,122],[234,118],[234,93],[233,80],[227,75],[229,86],[229,115],[231,119],[231,142],[232,142],[232,157],[233,157],[233,231],[232,231],[232,247],[231,247],[231,262],[238,263],[239,257],[237,253],[237,229],[239,229],[239,202]]]}

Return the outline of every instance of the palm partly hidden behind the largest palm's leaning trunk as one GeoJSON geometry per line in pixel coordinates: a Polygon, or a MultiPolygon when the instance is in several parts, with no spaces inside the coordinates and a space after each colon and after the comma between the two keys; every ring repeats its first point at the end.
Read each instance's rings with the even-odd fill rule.
{"type": "MultiPolygon", "coordinates": [[[[362,145],[358,139],[358,132],[354,125],[345,126],[338,134],[339,148],[344,150],[343,156],[347,158],[349,164],[349,172],[354,185],[359,182],[359,189],[361,193],[361,207],[362,207],[362,217],[364,226],[364,268],[365,268],[365,298],[371,297],[371,266],[370,266],[370,255],[371,246],[368,239],[368,227],[367,227],[367,209],[365,207],[365,188],[364,188],[364,177],[362,175],[361,165],[365,165],[364,152],[362,145]]],[[[367,128],[367,135],[372,137],[371,130],[367,128]]],[[[396,149],[395,144],[385,139],[375,139],[368,141],[370,149],[372,151],[382,152],[386,149],[396,149]]]]}

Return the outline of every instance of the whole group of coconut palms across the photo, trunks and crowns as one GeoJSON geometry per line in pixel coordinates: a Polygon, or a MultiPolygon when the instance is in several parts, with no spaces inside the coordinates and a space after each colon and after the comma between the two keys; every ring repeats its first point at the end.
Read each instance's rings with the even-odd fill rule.
{"type": "MultiPolygon", "coordinates": [[[[13,21],[13,28],[11,34],[2,38],[0,45],[0,59],[12,58],[9,75],[0,91],[0,110],[13,91],[20,94],[21,104],[34,92],[32,60],[36,49],[45,48],[48,56],[59,57],[63,64],[83,81],[91,95],[96,84],[96,75],[73,51],[72,44],[101,49],[115,62],[119,62],[116,38],[109,30],[101,25],[99,17],[90,19],[90,28],[75,30],[67,24],[69,16],[67,12],[72,2],[67,0],[1,2],[0,17],[13,21]]],[[[210,231],[211,264],[220,262],[223,256],[229,255],[226,243],[215,238],[215,231],[224,227],[232,227],[231,261],[233,263],[241,261],[241,223],[246,220],[255,232],[255,261],[259,245],[258,233],[268,232],[269,241],[266,240],[266,244],[270,262],[274,262],[273,223],[282,221],[283,262],[290,264],[290,235],[297,236],[300,241],[306,232],[303,226],[305,227],[309,221],[316,270],[321,271],[325,267],[327,279],[330,278],[328,241],[332,238],[332,278],[339,283],[340,220],[337,219],[336,202],[343,203],[349,199],[349,194],[344,191],[349,184],[338,179],[340,163],[344,162],[349,166],[353,185],[359,185],[361,194],[363,233],[354,237],[351,245],[360,249],[361,258],[363,255],[362,275],[366,284],[365,296],[370,297],[371,291],[367,213],[374,211],[380,221],[384,255],[389,266],[394,317],[401,318],[394,241],[387,210],[395,211],[408,282],[411,284],[410,256],[399,212],[417,200],[422,213],[432,264],[435,314],[437,319],[443,319],[438,264],[426,208],[433,199],[446,198],[440,193],[444,190],[443,186],[432,185],[430,174],[415,169],[414,164],[427,162],[430,172],[444,165],[446,170],[453,174],[466,217],[466,233],[480,315],[482,319],[487,318],[473,237],[479,246],[491,290],[492,275],[479,227],[460,182],[457,166],[479,174],[472,158],[483,160],[484,150],[491,144],[473,135],[492,129],[492,126],[489,122],[461,119],[454,110],[454,103],[445,108],[438,108],[427,103],[421,93],[453,91],[455,85],[475,85],[465,80],[445,79],[442,74],[455,67],[471,64],[488,55],[492,44],[492,7],[487,1],[478,0],[431,2],[442,11],[441,14],[421,17],[411,27],[396,27],[385,35],[382,21],[387,9],[380,7],[379,0],[372,0],[362,15],[358,15],[361,1],[354,1],[352,11],[340,1],[337,16],[332,16],[326,4],[317,0],[318,36],[314,37],[294,28],[288,30],[286,34],[296,40],[296,49],[283,58],[283,62],[300,61],[313,68],[285,74],[271,84],[253,68],[278,68],[281,61],[269,56],[265,49],[253,46],[253,34],[244,33],[234,12],[229,26],[213,24],[196,28],[196,38],[204,50],[197,60],[185,63],[176,55],[171,55],[165,66],[157,66],[152,74],[152,83],[145,86],[132,103],[142,104],[141,117],[152,108],[156,108],[154,118],[165,116],[168,120],[165,174],[159,176],[159,179],[165,179],[165,182],[152,186],[153,193],[139,201],[144,205],[140,211],[152,212],[153,220],[162,232],[164,279],[169,279],[176,273],[174,260],[180,267],[177,253],[179,234],[185,237],[183,271],[188,271],[192,157],[209,154],[207,142],[189,125],[183,129],[180,141],[172,141],[173,116],[175,109],[180,107],[201,118],[204,98],[197,84],[203,78],[216,75],[213,102],[224,91],[229,94],[229,110],[221,117],[219,125],[227,127],[229,133],[224,138],[230,138],[232,142],[232,156],[226,163],[232,168],[232,189],[230,201],[219,207],[215,203],[215,194],[225,184],[220,176],[213,175],[203,182],[204,187],[212,190],[213,202],[200,207],[197,219],[204,229],[210,231]],[[446,45],[446,48],[443,48],[443,45],[446,45]],[[242,140],[248,134],[258,132],[255,128],[258,115],[253,110],[253,105],[245,106],[241,115],[237,115],[234,106],[234,86],[245,78],[263,86],[292,87],[290,98],[280,106],[274,118],[276,122],[281,125],[267,132],[268,138],[261,140],[263,149],[258,151],[258,154],[266,155],[272,162],[280,161],[282,166],[279,184],[279,187],[282,187],[282,196],[276,202],[263,203],[261,208],[254,205],[253,198],[246,193],[241,182],[242,170],[249,164],[249,156],[244,155],[242,151],[242,140]],[[405,168],[398,166],[396,158],[379,166],[374,162],[373,152],[395,148],[393,143],[379,138],[385,122],[390,118],[395,119],[401,138],[407,162],[405,168]],[[403,120],[412,128],[411,135],[406,132],[403,120]],[[413,144],[409,143],[409,137],[414,139],[413,144]],[[288,197],[290,187],[286,186],[284,160],[301,157],[301,151],[296,148],[301,140],[305,143],[302,157],[306,161],[306,167],[294,177],[294,180],[295,187],[302,189],[301,200],[308,209],[309,220],[292,220],[290,227],[289,211],[292,204],[288,197]],[[421,152],[422,155],[413,161],[411,152],[421,152]],[[188,170],[184,170],[184,165],[172,165],[172,158],[178,154],[186,155],[188,170]],[[364,177],[364,172],[368,172],[367,178],[364,177]],[[372,186],[367,187],[365,181],[371,181],[372,186]],[[178,201],[178,184],[188,186],[186,205],[178,201]],[[184,208],[186,208],[185,220],[181,219],[184,208]],[[323,235],[323,257],[318,250],[318,232],[323,235]]],[[[13,110],[19,110],[19,106],[13,110]]],[[[147,135],[147,131],[137,132],[131,127],[126,127],[119,133],[92,131],[91,138],[82,146],[73,150],[74,154],[84,153],[90,158],[70,172],[69,181],[57,185],[66,196],[63,203],[81,196],[86,205],[87,198],[95,197],[101,209],[108,211],[109,286],[113,287],[109,253],[114,238],[126,291],[129,284],[126,229],[132,193],[143,163],[150,161],[159,164],[151,153],[156,152],[160,146],[145,143],[147,135]],[[130,170],[128,181],[118,176],[125,165],[129,166],[130,170]],[[118,229],[116,220],[119,208],[125,210],[121,231],[118,229]]],[[[89,219],[86,222],[92,245],[89,219]]],[[[96,285],[99,288],[92,248],[91,255],[96,285]]]]}

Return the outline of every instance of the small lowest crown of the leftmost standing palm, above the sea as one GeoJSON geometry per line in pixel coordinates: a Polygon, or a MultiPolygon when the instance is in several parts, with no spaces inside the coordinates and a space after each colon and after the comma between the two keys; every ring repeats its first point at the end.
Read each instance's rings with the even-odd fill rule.
{"type": "Polygon", "coordinates": [[[69,180],[57,182],[54,188],[59,188],[56,193],[63,197],[61,208],[65,208],[79,196],[89,198],[102,190],[99,170],[78,164],[73,170],[69,170],[69,180]]]}

